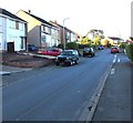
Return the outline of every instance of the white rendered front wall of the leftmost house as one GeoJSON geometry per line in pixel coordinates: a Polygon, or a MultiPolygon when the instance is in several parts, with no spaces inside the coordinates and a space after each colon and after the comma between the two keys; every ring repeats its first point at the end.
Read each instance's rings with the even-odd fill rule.
{"type": "Polygon", "coordinates": [[[25,37],[24,23],[21,23],[21,30],[18,30],[11,27],[11,20],[16,25],[14,19],[0,16],[0,50],[7,51],[8,42],[14,42],[14,51],[25,50],[25,42],[24,48],[21,48],[21,37],[25,37]]]}

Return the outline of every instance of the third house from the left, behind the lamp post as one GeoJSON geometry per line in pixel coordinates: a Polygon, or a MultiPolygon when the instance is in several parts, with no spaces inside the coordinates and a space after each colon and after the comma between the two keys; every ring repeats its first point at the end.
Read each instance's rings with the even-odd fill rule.
{"type": "Polygon", "coordinates": [[[66,27],[59,24],[57,21],[50,21],[51,24],[54,24],[59,29],[60,43],[78,41],[78,33],[73,32],[66,27]],[[64,32],[63,32],[64,30],[64,32]],[[63,37],[64,33],[64,37],[63,37]]]}

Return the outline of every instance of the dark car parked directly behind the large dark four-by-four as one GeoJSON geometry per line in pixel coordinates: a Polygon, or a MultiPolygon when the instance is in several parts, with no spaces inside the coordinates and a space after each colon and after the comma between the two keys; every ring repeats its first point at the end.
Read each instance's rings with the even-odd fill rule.
{"type": "Polygon", "coordinates": [[[83,57],[95,57],[95,52],[93,48],[84,48],[83,57]]]}

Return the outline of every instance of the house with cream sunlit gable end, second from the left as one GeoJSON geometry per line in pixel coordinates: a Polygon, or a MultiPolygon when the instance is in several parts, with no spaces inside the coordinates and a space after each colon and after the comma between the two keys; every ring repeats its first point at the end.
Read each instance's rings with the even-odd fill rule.
{"type": "Polygon", "coordinates": [[[60,43],[59,29],[50,22],[31,14],[30,11],[19,10],[17,16],[28,21],[29,44],[34,44],[37,48],[50,48],[60,43]]]}

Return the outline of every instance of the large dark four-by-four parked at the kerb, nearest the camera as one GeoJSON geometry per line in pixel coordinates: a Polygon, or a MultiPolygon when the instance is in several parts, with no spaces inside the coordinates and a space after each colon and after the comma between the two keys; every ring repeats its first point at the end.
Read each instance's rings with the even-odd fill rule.
{"type": "Polygon", "coordinates": [[[55,59],[55,64],[73,65],[79,63],[79,52],[76,50],[63,50],[55,59]]]}

